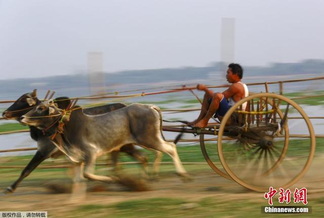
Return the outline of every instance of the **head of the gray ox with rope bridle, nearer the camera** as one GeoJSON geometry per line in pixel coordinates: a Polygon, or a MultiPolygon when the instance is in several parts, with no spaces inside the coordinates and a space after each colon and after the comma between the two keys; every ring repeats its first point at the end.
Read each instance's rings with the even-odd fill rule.
{"type": "Polygon", "coordinates": [[[46,129],[62,116],[53,100],[45,101],[34,107],[31,111],[20,117],[20,122],[35,126],[38,129],[46,129]]]}

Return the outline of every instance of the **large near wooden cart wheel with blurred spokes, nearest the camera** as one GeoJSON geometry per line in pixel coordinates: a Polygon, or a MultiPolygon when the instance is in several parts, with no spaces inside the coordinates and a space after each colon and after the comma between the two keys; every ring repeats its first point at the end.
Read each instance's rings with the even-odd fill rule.
{"type": "Polygon", "coordinates": [[[218,132],[224,169],[234,181],[255,191],[293,185],[308,170],[314,152],[309,118],[298,104],[277,94],[260,93],[237,102],[218,132]],[[233,140],[225,142],[224,135],[233,140]]]}

